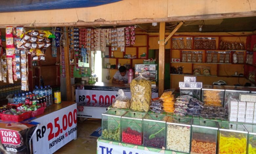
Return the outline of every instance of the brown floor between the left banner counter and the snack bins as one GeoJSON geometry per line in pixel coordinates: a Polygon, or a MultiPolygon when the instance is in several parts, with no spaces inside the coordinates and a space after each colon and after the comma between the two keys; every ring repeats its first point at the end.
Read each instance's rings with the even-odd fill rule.
{"type": "Polygon", "coordinates": [[[55,154],[96,154],[97,137],[90,136],[98,127],[101,126],[101,119],[87,119],[77,123],[77,139],[72,140],[55,154]]]}

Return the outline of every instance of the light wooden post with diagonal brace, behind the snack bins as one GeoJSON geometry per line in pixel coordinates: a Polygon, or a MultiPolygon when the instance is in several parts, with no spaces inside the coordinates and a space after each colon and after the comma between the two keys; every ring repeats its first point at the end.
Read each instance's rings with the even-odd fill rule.
{"type": "Polygon", "coordinates": [[[165,22],[160,22],[159,29],[159,81],[158,81],[158,96],[161,96],[164,88],[164,34],[165,22]]]}

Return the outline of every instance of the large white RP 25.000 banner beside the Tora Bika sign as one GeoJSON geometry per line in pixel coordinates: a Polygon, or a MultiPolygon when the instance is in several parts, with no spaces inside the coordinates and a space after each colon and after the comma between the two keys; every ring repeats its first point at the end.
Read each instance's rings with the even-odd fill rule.
{"type": "Polygon", "coordinates": [[[76,104],[33,120],[41,123],[33,136],[33,152],[53,153],[77,135],[76,104]]]}

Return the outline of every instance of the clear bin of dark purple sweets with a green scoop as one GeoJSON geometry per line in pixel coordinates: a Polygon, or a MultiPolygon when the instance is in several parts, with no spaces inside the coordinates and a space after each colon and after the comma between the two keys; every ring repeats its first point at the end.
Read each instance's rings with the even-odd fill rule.
{"type": "Polygon", "coordinates": [[[148,114],[143,119],[143,145],[165,148],[167,116],[148,114]]]}

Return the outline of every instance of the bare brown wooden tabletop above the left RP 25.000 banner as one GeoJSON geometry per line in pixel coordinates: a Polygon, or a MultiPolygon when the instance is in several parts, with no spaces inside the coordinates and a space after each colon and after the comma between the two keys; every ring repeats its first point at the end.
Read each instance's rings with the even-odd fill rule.
{"type": "Polygon", "coordinates": [[[35,118],[39,118],[39,117],[42,117],[44,115],[50,114],[52,112],[55,112],[55,111],[57,111],[59,109],[62,109],[62,108],[67,107],[67,106],[70,106],[72,104],[75,104],[75,102],[61,101],[60,104],[55,104],[53,102],[53,105],[50,105],[50,106],[46,107],[46,109],[44,110],[44,114],[40,114],[40,115],[36,116],[35,118]]]}

